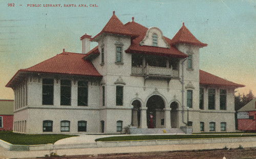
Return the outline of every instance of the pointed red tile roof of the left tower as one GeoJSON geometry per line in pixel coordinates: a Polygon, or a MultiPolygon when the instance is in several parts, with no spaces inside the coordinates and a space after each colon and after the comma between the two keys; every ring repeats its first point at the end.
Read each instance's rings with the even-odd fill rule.
{"type": "Polygon", "coordinates": [[[112,17],[110,18],[108,23],[105,25],[105,27],[101,30],[101,32],[99,32],[97,35],[91,38],[91,40],[98,37],[101,33],[112,33],[112,34],[119,34],[119,35],[136,36],[124,27],[122,22],[115,15],[115,11],[113,11],[112,17]]]}

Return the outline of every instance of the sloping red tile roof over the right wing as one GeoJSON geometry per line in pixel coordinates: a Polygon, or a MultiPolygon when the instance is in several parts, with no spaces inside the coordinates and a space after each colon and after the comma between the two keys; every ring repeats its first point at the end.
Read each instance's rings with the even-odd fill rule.
{"type": "Polygon", "coordinates": [[[234,87],[244,87],[245,85],[230,82],[218,76],[209,74],[205,71],[199,70],[200,84],[203,85],[223,85],[223,86],[234,86],[234,87]]]}

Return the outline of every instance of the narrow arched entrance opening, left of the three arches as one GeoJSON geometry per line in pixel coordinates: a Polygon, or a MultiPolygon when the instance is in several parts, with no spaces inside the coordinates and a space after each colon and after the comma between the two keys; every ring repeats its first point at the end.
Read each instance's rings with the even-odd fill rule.
{"type": "Polygon", "coordinates": [[[136,126],[137,128],[140,127],[140,101],[135,100],[132,103],[133,105],[133,115],[132,115],[132,126],[136,126]]]}

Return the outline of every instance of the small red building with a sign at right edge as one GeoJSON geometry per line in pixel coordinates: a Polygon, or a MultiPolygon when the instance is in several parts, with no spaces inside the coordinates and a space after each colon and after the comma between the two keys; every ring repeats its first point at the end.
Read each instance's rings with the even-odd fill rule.
{"type": "Polygon", "coordinates": [[[256,131],[256,99],[238,110],[238,130],[256,131]]]}

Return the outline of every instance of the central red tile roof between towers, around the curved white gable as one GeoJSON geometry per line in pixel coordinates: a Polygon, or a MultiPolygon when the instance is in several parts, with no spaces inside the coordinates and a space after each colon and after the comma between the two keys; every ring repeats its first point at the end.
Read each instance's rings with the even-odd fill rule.
{"type": "MultiPolygon", "coordinates": [[[[175,47],[170,46],[170,48],[160,48],[160,47],[152,47],[152,46],[140,46],[140,41],[146,35],[146,31],[148,28],[138,24],[137,22],[130,21],[124,25],[132,34],[139,35],[138,37],[132,39],[131,46],[125,50],[126,53],[138,53],[138,54],[150,54],[150,55],[161,55],[161,56],[172,56],[172,57],[180,57],[185,58],[187,55],[178,51],[175,47]]],[[[170,39],[164,37],[167,43],[170,43],[170,39]]]]}

